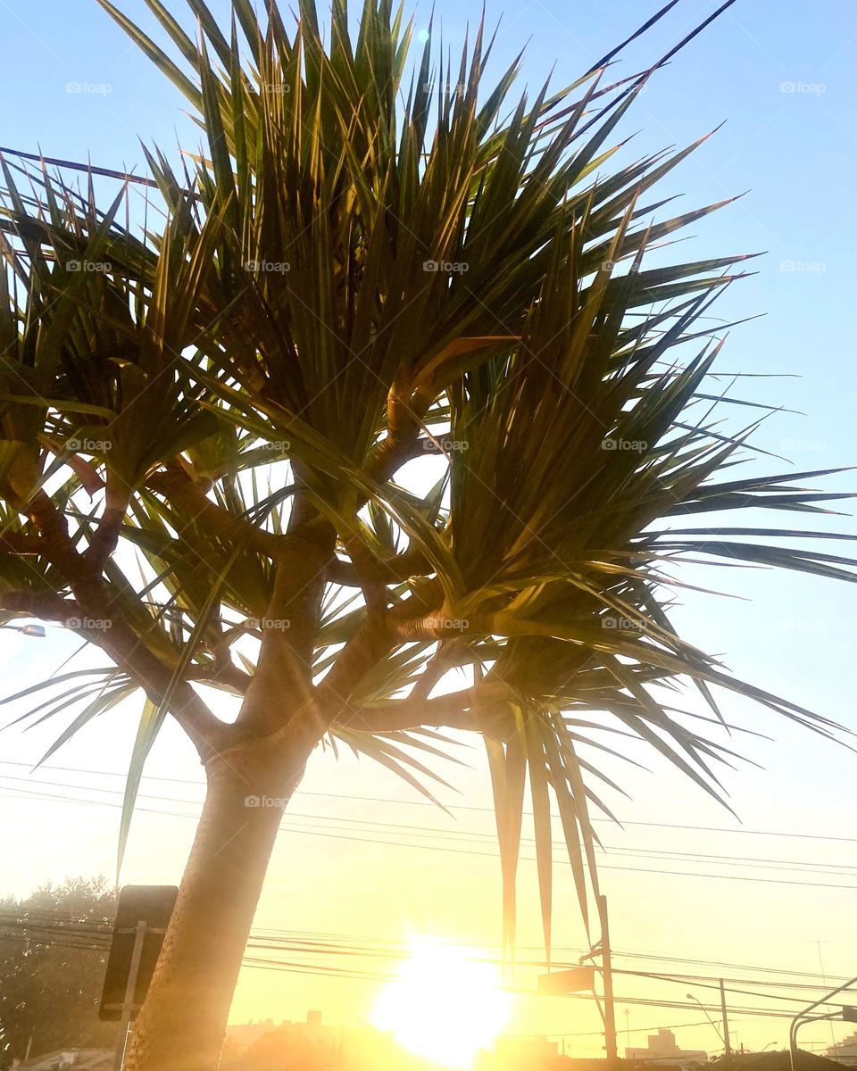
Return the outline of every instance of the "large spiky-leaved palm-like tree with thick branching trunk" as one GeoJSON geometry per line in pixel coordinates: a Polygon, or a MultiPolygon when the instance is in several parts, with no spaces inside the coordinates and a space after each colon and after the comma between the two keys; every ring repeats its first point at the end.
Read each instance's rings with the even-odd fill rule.
{"type": "Polygon", "coordinates": [[[326,30],[301,0],[290,31],[273,0],[264,20],[232,0],[228,34],[189,0],[198,43],[147,0],[174,62],[100,2],[206,147],[180,166],[152,150],[104,207],[94,177],[115,172],[79,188],[67,167],[3,162],[0,607],[106,657],[24,693],[42,718],[78,705],[55,748],[141,697],[120,855],[168,714],[199,753],[205,808],[126,1067],[208,1071],[316,748],[431,796],[421,758],[480,734],[505,947],[528,784],[550,950],[552,812],[584,920],[598,891],[590,808],[610,782],[582,745],[642,739],[720,797],[715,689],[837,730],[683,640],[671,567],[854,579],[855,562],[809,548],[813,531],[724,527],[840,496],[800,485],[823,473],[725,474],[751,428],[715,429],[734,399],[707,386],[722,342],[704,317],[745,257],[645,263],[721,207],[650,199],[696,146],[607,166],[650,72],[607,84],[611,54],[510,103],[518,64],[486,87],[481,27],[460,64],[433,65],[430,34],[411,67],[391,0],[365,0],[356,34],[345,0],[326,30]],[[710,718],[677,710],[682,682],[710,718]]]}

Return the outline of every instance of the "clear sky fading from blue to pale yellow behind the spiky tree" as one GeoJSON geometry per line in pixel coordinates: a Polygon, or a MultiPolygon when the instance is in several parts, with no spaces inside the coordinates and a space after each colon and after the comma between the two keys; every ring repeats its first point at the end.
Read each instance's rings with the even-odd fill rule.
{"type": "MultiPolygon", "coordinates": [[[[141,0],[120,6],[152,28],[141,0]]],[[[168,6],[182,10],[178,0],[168,6]]],[[[496,69],[526,45],[522,80],[535,92],[553,70],[554,85],[566,85],[657,6],[653,0],[518,0],[505,6],[487,0],[488,22],[500,19],[496,69]]],[[[617,74],[657,59],[716,6],[712,0],[683,0],[630,49],[617,74]]],[[[225,15],[227,3],[211,0],[211,7],[225,15]]],[[[442,24],[453,49],[480,10],[481,0],[435,0],[436,25],[442,24]]],[[[427,27],[428,17],[428,4],[416,7],[418,28],[427,27]]],[[[12,103],[0,122],[3,147],[139,170],[140,140],[167,150],[177,138],[196,147],[178,92],[94,0],[0,0],[0,86],[12,103]]],[[[857,9],[851,0],[817,0],[811,7],[801,0],[738,0],[658,73],[625,120],[623,133],[634,134],[628,149],[633,155],[683,146],[725,121],[664,188],[682,194],[681,211],[746,192],[696,225],[689,244],[705,256],[766,253],[754,263],[757,274],[733,287],[716,312],[727,320],[764,314],[730,333],[720,367],[772,377],[745,379],[740,392],[783,407],[755,439],[782,458],[768,459],[781,471],[855,462],[856,51],[857,9]]],[[[680,252],[690,253],[687,246],[680,252]]],[[[827,485],[848,488],[853,481],[836,476],[827,485]]],[[[829,527],[855,531],[850,516],[831,519],[829,527]]],[[[693,583],[727,584],[740,598],[689,593],[676,615],[680,631],[721,654],[743,679],[854,728],[851,592],[796,574],[725,572],[688,569],[693,583]]],[[[5,632],[4,694],[47,676],[75,648],[73,637],[55,630],[46,639],[5,632]]],[[[740,821],[650,756],[650,771],[612,771],[630,796],[612,800],[622,828],[603,827],[612,850],[602,883],[613,944],[622,953],[617,966],[725,974],[743,980],[730,983],[734,989],[750,992],[763,992],[766,979],[792,977],[751,968],[826,978],[857,974],[855,756],[736,698],[726,698],[724,708],[730,720],[767,737],[736,736],[749,761],[726,771],[724,786],[740,821]],[[772,862],[754,865],[757,860],[772,862]],[[676,962],[682,960],[690,962],[676,962]]],[[[72,874],[115,873],[118,803],[135,715],[134,709],[117,708],[31,774],[64,723],[0,734],[0,895],[72,874]]],[[[481,752],[467,743],[470,750],[462,748],[461,756],[469,765],[440,770],[458,789],[441,791],[452,817],[365,761],[314,756],[284,821],[257,926],[349,935],[336,940],[405,942],[411,934],[427,934],[496,949],[499,863],[486,835],[493,830],[490,789],[481,752]]],[[[159,740],[147,772],[122,880],[178,883],[193,833],[189,816],[198,809],[202,784],[195,754],[175,727],[159,740]]],[[[525,844],[522,854],[531,856],[531,846],[525,844]]],[[[522,862],[522,959],[527,947],[531,957],[539,955],[533,872],[522,862]]],[[[557,956],[572,957],[562,952],[568,949],[577,950],[576,957],[586,937],[561,864],[555,902],[557,956]]],[[[520,968],[515,981],[531,990],[533,970],[520,968]]],[[[640,1045],[648,1028],[675,1026],[683,1046],[716,1051],[715,1031],[688,992],[704,1004],[712,999],[713,991],[698,979],[619,976],[620,1045],[626,1028],[640,1045]]],[[[730,1000],[740,1009],[797,1008],[783,997],[800,991],[777,994],[732,994],[730,1000]]],[[[359,1023],[376,995],[377,984],[366,980],[249,968],[232,1019],[302,1019],[309,1008],[321,1008],[332,1022],[359,1023]]],[[[785,1041],[783,1017],[746,1011],[733,1017],[738,1044],[761,1049],[785,1041]]],[[[575,1053],[600,1053],[598,1013],[587,1001],[521,995],[510,1029],[566,1035],[575,1053]]],[[[821,1046],[831,1029],[837,1037],[851,1032],[844,1025],[821,1025],[801,1038],[821,1046]]]]}

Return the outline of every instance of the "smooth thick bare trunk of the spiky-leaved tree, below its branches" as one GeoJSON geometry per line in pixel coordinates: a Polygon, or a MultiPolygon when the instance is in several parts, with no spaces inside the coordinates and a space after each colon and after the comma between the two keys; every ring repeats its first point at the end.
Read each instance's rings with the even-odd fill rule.
{"type": "Polygon", "coordinates": [[[215,1071],[232,991],[287,798],[306,754],[279,769],[246,745],[208,767],[208,793],[126,1071],[215,1071]]]}

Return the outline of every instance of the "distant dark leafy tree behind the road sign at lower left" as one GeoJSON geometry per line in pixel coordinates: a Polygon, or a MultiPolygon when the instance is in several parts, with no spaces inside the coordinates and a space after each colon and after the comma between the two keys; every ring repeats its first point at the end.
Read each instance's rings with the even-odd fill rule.
{"type": "Polygon", "coordinates": [[[104,877],[0,900],[0,1069],[28,1045],[37,1055],[115,1044],[116,1027],[97,1015],[115,911],[104,877]]]}

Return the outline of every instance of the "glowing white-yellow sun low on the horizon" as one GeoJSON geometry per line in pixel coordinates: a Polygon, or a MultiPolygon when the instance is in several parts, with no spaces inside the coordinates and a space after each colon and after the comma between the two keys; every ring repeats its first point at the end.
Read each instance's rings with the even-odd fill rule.
{"type": "Polygon", "coordinates": [[[498,970],[466,949],[421,938],[378,995],[372,1022],[418,1056],[469,1068],[502,1030],[511,1006],[498,970]]]}

